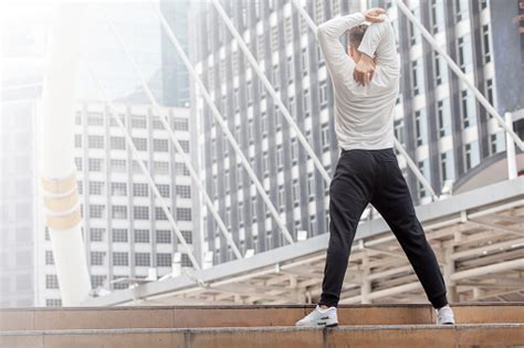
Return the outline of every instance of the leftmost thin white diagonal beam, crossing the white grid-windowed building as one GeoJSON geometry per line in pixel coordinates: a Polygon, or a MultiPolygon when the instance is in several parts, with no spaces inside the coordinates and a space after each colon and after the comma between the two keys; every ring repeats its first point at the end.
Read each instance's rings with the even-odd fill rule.
{"type": "Polygon", "coordinates": [[[188,254],[188,257],[191,261],[191,264],[193,265],[195,268],[200,270],[201,267],[200,267],[199,263],[197,262],[197,259],[195,259],[195,255],[193,255],[191,249],[189,249],[189,245],[186,242],[186,239],[184,238],[182,233],[180,232],[180,229],[178,228],[177,222],[172,218],[172,213],[169,211],[169,208],[166,203],[166,200],[164,199],[164,197],[158,191],[158,188],[155,184],[155,180],[153,179],[151,175],[149,173],[149,170],[147,169],[144,161],[140,159],[140,155],[139,155],[135,144],[133,143],[133,138],[130,137],[129,133],[127,131],[126,126],[124,126],[124,124],[122,123],[122,119],[118,116],[118,110],[113,105],[109,97],[107,96],[107,93],[105,92],[104,87],[102,86],[102,82],[96,76],[93,67],[90,64],[87,64],[87,66],[88,66],[88,70],[91,72],[92,76],[93,76],[93,80],[96,82],[96,84],[98,86],[98,89],[99,89],[101,94],[104,97],[104,101],[106,102],[107,106],[111,109],[111,116],[115,119],[118,128],[120,128],[120,130],[124,133],[124,137],[126,138],[127,145],[129,146],[135,160],[137,161],[138,166],[140,167],[142,172],[146,177],[147,183],[149,184],[149,188],[153,190],[153,193],[159,200],[160,208],[164,211],[164,213],[166,214],[167,220],[171,224],[175,233],[177,234],[178,240],[182,244],[184,250],[186,250],[186,253],[188,254]]]}

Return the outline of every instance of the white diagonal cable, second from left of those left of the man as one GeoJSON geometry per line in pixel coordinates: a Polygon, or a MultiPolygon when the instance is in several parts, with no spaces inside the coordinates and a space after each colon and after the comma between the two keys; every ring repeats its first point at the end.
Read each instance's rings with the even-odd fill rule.
{"type": "Polygon", "coordinates": [[[166,117],[163,115],[163,113],[160,110],[160,106],[158,105],[155,96],[153,95],[151,89],[147,85],[146,80],[144,78],[144,75],[142,74],[140,70],[136,65],[135,60],[129,54],[129,50],[127,49],[127,45],[124,43],[124,40],[122,40],[120,35],[116,31],[115,23],[113,22],[113,20],[109,17],[107,17],[107,13],[104,12],[104,15],[105,15],[107,22],[109,23],[111,29],[113,30],[113,33],[115,34],[116,40],[118,41],[122,49],[124,50],[124,53],[126,54],[127,60],[133,65],[133,68],[135,71],[135,73],[137,74],[138,78],[140,80],[140,84],[144,87],[144,91],[146,92],[146,95],[147,95],[147,98],[149,99],[149,103],[151,103],[153,108],[158,113],[158,116],[160,118],[160,122],[164,125],[164,128],[166,128],[166,130],[168,131],[169,137],[171,138],[171,141],[175,145],[175,149],[180,155],[184,164],[188,168],[189,175],[191,176],[191,178],[192,178],[195,184],[197,186],[198,190],[200,190],[200,192],[203,194],[203,199],[206,201],[206,204],[208,205],[209,210],[211,211],[211,214],[213,215],[214,220],[217,221],[217,224],[219,225],[220,231],[222,232],[223,236],[228,241],[228,244],[231,246],[231,250],[233,251],[237,259],[242,259],[242,254],[240,253],[239,247],[234,243],[231,233],[228,232],[228,229],[226,228],[226,224],[223,223],[223,221],[220,218],[217,209],[214,208],[214,204],[213,204],[211,198],[206,192],[206,189],[203,188],[203,184],[200,181],[200,178],[198,177],[197,171],[195,170],[195,168],[191,165],[191,160],[189,159],[188,156],[186,156],[186,152],[184,152],[184,149],[182,149],[180,143],[178,143],[178,139],[176,138],[175,133],[171,130],[171,127],[169,126],[169,123],[167,122],[166,117]]]}

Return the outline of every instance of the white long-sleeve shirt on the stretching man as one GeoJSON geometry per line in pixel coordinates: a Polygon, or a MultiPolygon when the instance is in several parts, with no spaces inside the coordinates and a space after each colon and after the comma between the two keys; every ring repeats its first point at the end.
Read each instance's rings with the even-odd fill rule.
{"type": "Polygon", "coordinates": [[[335,133],[345,149],[394,146],[394,108],[399,92],[400,63],[390,20],[371,23],[358,51],[377,57],[375,75],[365,86],[353,77],[355,62],[339,41],[365,21],[363,13],[332,19],[318,27],[317,38],[335,88],[335,133]]]}

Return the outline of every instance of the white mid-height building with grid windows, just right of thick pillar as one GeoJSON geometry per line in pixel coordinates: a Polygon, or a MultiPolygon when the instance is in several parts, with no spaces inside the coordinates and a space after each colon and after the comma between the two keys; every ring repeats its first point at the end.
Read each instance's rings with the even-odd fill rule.
{"type": "MultiPolygon", "coordinates": [[[[193,238],[198,200],[181,155],[176,154],[158,115],[147,105],[116,104],[157,188],[186,242],[200,262],[193,238]]],[[[191,156],[189,109],[163,108],[175,136],[191,156]]],[[[83,235],[93,288],[125,288],[119,278],[154,280],[192,267],[175,232],[138,167],[123,131],[105,103],[85,102],[75,115],[75,164],[82,202],[83,235]]],[[[196,219],[198,220],[198,219],[196,219]]],[[[39,235],[38,305],[59,306],[60,291],[49,233],[39,235]]]]}

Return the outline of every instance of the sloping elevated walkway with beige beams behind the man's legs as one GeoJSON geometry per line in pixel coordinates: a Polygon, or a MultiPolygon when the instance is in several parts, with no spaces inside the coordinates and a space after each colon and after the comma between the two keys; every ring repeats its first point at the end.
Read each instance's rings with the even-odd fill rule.
{"type": "MultiPolygon", "coordinates": [[[[442,266],[450,302],[524,300],[524,177],[416,210],[442,266]]],[[[115,291],[83,305],[314,303],[321,294],[328,238],[321,234],[248,259],[115,291]]],[[[382,219],[360,223],[340,303],[423,302],[423,289],[387,223],[382,219]]]]}

